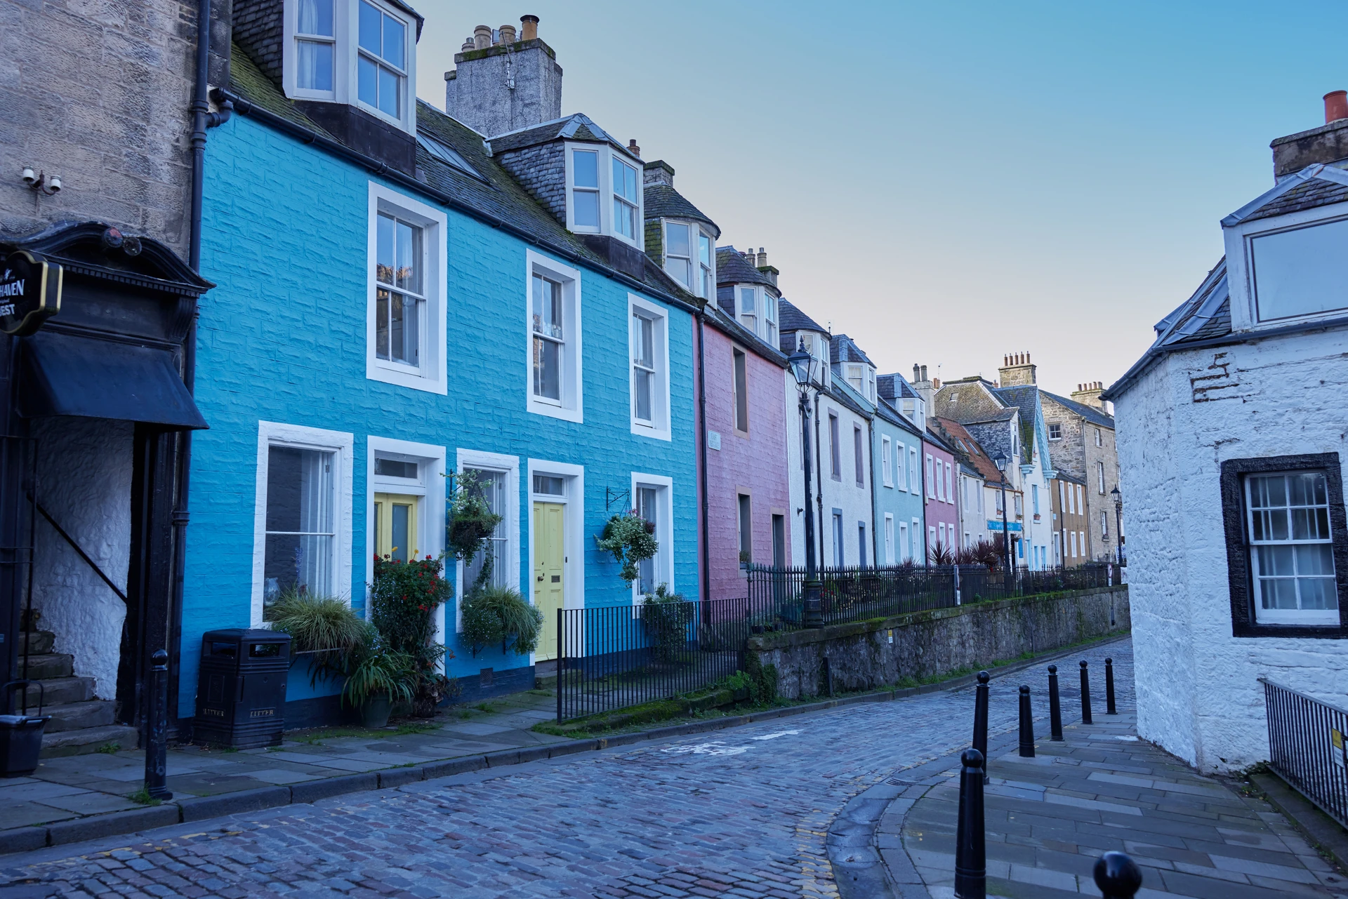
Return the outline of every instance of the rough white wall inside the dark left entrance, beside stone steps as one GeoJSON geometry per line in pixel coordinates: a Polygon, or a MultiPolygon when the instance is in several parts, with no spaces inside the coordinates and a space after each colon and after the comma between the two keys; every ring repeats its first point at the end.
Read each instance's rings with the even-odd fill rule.
{"type": "MultiPolygon", "coordinates": [[[[131,558],[131,422],[35,419],[38,501],[127,589],[131,558]]],[[[127,607],[39,515],[32,605],[55,651],[74,655],[74,671],[94,678],[100,698],[116,698],[121,623],[127,607]]]]}

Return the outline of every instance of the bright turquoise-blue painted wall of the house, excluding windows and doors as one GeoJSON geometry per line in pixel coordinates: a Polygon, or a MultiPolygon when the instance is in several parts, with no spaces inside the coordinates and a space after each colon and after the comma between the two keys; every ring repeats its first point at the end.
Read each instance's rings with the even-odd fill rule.
{"type": "MultiPolygon", "coordinates": [[[[608,518],[604,489],[640,470],[674,481],[674,578],[697,592],[696,434],[690,314],[669,310],[673,441],[634,435],[628,412],[628,290],[581,271],[584,423],[526,411],[526,249],[449,212],[449,395],[365,377],[365,266],[371,178],[247,117],[212,132],[197,403],[210,423],[193,442],[191,522],[183,596],[179,714],[195,704],[201,633],[248,627],[252,594],[257,422],[355,434],[352,593],[363,604],[367,437],[519,457],[520,584],[528,585],[527,460],[585,466],[585,604],[625,604],[617,563],[594,545],[608,518]]],[[[423,204],[425,197],[384,185],[423,204]]],[[[453,574],[453,565],[448,566],[453,574]]],[[[526,589],[527,594],[527,589],[526,589]]],[[[446,609],[453,631],[454,608],[446,609]]],[[[452,674],[518,667],[527,656],[488,648],[474,659],[450,635],[452,674]]],[[[297,666],[301,669],[302,666],[297,666]]],[[[314,695],[293,671],[291,700],[314,695]]],[[[333,691],[319,685],[317,694],[333,691]]]]}

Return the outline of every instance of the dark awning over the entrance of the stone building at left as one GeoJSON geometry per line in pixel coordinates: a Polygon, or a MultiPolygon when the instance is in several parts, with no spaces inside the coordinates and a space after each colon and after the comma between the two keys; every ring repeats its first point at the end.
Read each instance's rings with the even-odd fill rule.
{"type": "Polygon", "coordinates": [[[53,330],[22,338],[19,414],[115,418],[171,430],[208,427],[173,353],[53,330]]]}

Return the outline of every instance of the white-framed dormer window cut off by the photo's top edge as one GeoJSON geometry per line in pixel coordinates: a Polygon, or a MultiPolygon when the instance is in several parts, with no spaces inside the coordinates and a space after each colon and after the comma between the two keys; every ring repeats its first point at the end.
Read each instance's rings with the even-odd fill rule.
{"type": "Polygon", "coordinates": [[[415,22],[380,0],[286,0],[283,85],[415,132],[415,22]]]}

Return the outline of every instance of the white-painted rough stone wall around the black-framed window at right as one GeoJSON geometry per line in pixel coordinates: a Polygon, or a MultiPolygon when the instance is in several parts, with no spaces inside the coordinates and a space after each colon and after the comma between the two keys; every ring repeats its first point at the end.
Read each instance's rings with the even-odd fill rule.
{"type": "Polygon", "coordinates": [[[1115,400],[1138,729],[1202,771],[1268,757],[1259,677],[1348,704],[1348,642],[1231,635],[1220,496],[1228,458],[1344,461],[1345,356],[1341,330],[1171,353],[1115,400]]]}

